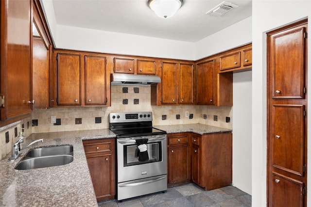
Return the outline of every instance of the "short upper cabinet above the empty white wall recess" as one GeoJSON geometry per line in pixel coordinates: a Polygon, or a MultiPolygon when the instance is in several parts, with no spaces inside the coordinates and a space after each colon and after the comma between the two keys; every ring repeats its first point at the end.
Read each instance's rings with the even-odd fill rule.
{"type": "Polygon", "coordinates": [[[242,72],[252,68],[252,46],[245,46],[222,52],[219,55],[220,73],[242,72]]]}

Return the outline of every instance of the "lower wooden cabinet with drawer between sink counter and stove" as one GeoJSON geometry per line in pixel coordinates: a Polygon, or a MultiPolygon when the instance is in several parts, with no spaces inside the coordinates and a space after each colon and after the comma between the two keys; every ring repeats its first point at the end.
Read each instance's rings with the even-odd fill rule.
{"type": "Polygon", "coordinates": [[[115,139],[84,140],[88,169],[97,201],[116,195],[115,139]]]}

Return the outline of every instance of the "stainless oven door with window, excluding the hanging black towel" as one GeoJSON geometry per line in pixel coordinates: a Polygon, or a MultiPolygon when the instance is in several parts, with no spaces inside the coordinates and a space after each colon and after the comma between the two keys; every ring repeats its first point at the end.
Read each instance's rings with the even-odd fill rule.
{"type": "Polygon", "coordinates": [[[166,135],[119,138],[117,141],[118,183],[167,174],[166,135]],[[149,159],[139,161],[137,139],[148,139],[149,159]]]}

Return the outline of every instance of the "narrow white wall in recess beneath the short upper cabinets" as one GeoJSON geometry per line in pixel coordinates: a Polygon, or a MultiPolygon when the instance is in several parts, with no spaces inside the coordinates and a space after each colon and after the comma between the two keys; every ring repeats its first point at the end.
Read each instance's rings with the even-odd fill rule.
{"type": "Polygon", "coordinates": [[[252,194],[252,71],[233,74],[232,185],[252,194]]]}

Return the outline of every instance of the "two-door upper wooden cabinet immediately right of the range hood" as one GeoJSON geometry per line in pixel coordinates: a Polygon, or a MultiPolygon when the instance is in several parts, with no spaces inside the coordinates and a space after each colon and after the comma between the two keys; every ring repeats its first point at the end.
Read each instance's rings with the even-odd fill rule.
{"type": "Polygon", "coordinates": [[[162,61],[161,83],[151,86],[152,105],[182,105],[194,103],[194,68],[192,62],[162,61]]]}

